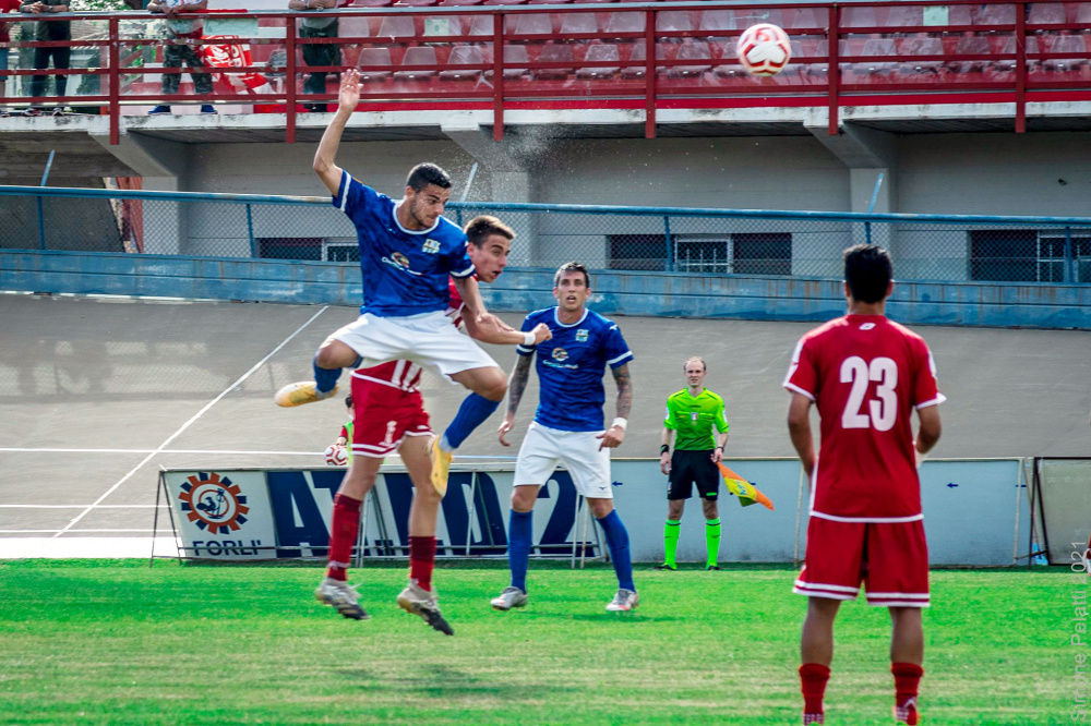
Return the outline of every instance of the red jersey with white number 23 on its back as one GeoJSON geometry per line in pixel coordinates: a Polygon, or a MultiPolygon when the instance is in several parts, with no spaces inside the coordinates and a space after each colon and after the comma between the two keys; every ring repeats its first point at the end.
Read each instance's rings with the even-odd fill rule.
{"type": "Polygon", "coordinates": [[[921,519],[910,415],[946,400],[923,338],[883,315],[839,317],[800,339],[784,388],[814,401],[822,418],[813,516],[921,519]]]}

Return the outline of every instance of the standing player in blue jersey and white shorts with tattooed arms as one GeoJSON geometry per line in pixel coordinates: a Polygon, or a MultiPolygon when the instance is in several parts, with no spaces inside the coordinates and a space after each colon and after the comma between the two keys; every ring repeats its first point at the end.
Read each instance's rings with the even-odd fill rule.
{"type": "Polygon", "coordinates": [[[515,425],[515,412],[530,377],[530,359],[538,353],[539,403],[515,464],[507,560],[512,584],[492,600],[493,608],[508,610],[527,604],[527,561],[533,545],[532,517],[538,491],[559,463],[572,475],[591,513],[607,535],[619,590],[608,610],[631,610],[639,603],[633,584],[628,532],[613,508],[610,449],[625,439],[633,406],[628,362],[633,353],[612,320],[585,307],[590,295],[587,269],[579,263],[562,265],[553,277],[558,306],[527,315],[524,330],[546,324],[552,337],[537,347],[519,346],[512,370],[507,413],[500,425],[500,443],[515,425]],[[603,431],[602,404],[606,366],[618,384],[618,418],[603,431]]]}

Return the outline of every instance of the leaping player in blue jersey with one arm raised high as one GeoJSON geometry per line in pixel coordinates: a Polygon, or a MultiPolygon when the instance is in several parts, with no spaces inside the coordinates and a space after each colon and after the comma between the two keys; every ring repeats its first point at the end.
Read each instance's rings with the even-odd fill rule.
{"type": "MultiPolygon", "coordinates": [[[[300,406],[337,391],[341,368],[359,368],[405,359],[432,365],[472,391],[443,436],[432,441],[432,486],[447,489],[453,451],[488,419],[507,390],[504,372],[444,315],[447,276],[465,304],[466,329],[485,342],[513,342],[509,327],[484,308],[466,234],[443,218],[451,178],[434,164],[409,172],[405,198],[395,202],[352,179],[334,164],[340,137],[360,101],[359,73],[347,71],[339,105],[314,154],[314,171],[356,226],[360,243],[364,303],[355,323],[334,332],[314,355],[314,380],[277,391],[279,406],[300,406]]],[[[546,326],[515,336],[533,346],[549,336],[546,326]]]]}

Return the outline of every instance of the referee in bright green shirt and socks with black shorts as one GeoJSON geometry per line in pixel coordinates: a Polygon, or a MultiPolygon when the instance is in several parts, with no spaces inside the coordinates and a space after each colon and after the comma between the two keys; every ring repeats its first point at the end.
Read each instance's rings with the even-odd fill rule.
{"type": "Polygon", "coordinates": [[[728,443],[728,420],[723,415],[723,398],[704,386],[707,367],[700,358],[691,358],[683,365],[688,386],[667,398],[667,418],[663,420],[662,446],[659,467],[670,476],[667,489],[667,527],[663,529],[663,548],[667,557],[657,570],[675,570],[674,561],[682,525],[685,500],[697,485],[702,508],[705,510],[705,544],[708,552],[706,570],[720,569],[720,513],[716,498],[720,473],[716,464],[723,458],[728,443]],[[716,427],[716,434],[712,427],[716,427]],[[673,445],[674,455],[671,456],[673,445]]]}

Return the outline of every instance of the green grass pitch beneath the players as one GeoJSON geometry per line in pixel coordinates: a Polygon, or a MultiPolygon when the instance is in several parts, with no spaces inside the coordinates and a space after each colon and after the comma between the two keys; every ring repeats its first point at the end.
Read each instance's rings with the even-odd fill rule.
{"type": "MultiPolygon", "coordinates": [[[[2,724],[794,724],[805,600],[787,567],[651,572],[608,614],[601,565],[443,566],[453,638],[394,603],[403,567],[355,570],[368,621],[313,600],[319,567],[0,564],[2,724]]],[[[1069,723],[1067,571],[933,572],[925,725],[1069,723]]],[[[1082,585],[1086,586],[1086,585],[1082,585]]],[[[828,724],[892,724],[883,609],[838,619],[828,724]]]]}

